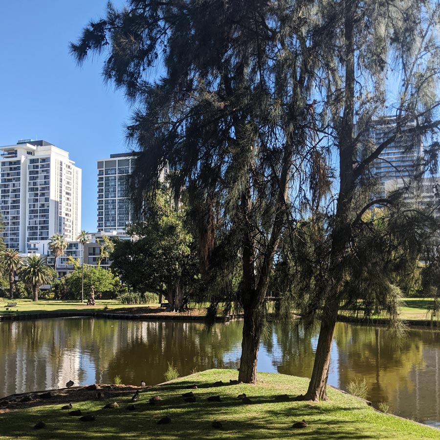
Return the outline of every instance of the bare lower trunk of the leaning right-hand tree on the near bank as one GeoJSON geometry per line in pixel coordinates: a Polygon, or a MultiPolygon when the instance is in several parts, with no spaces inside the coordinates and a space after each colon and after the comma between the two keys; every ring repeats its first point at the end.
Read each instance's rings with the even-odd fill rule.
{"type": "Polygon", "coordinates": [[[322,315],[318,345],[316,347],[313,371],[305,395],[295,400],[327,400],[327,379],[329,378],[331,342],[338,317],[338,303],[333,301],[322,315]]]}

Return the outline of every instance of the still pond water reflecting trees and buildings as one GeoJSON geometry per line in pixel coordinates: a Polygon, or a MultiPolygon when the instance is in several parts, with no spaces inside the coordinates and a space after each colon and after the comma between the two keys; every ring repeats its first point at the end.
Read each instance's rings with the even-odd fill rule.
{"type": "MultiPolygon", "coordinates": [[[[238,368],[242,323],[49,319],[0,323],[0,397],[76,384],[163,382],[167,363],[181,375],[193,369],[238,368]]],[[[310,376],[318,332],[273,325],[265,333],[258,369],[310,376]]],[[[329,383],[347,389],[364,378],[369,400],[440,427],[440,332],[410,330],[396,339],[382,327],[338,323],[329,383]]]]}

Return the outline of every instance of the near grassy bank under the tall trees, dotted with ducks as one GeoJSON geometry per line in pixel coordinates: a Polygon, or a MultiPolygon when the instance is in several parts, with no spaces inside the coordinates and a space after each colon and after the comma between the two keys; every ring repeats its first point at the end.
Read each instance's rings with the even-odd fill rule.
{"type": "MultiPolygon", "coordinates": [[[[440,431],[410,420],[376,412],[353,396],[329,389],[329,402],[280,402],[276,396],[304,393],[308,379],[282,374],[259,374],[257,385],[213,387],[214,382],[237,378],[230,370],[208,370],[141,392],[134,411],[127,411],[130,395],[116,399],[119,408],[103,409],[105,401],[74,403],[73,409],[93,415],[95,421],[82,422],[69,417],[60,405],[37,406],[0,414],[2,439],[440,439],[440,431]],[[187,403],[181,396],[193,390],[197,401],[187,403]],[[246,393],[251,404],[237,395],[246,393]],[[162,400],[150,405],[151,396],[162,400]],[[208,396],[220,395],[220,402],[208,396]],[[159,425],[164,416],[171,423],[159,425]],[[295,421],[305,419],[308,426],[294,429],[295,421]],[[32,429],[40,420],[46,428],[32,429]],[[218,420],[222,427],[212,427],[218,420]]],[[[66,400],[67,403],[67,400],[66,400]]]]}

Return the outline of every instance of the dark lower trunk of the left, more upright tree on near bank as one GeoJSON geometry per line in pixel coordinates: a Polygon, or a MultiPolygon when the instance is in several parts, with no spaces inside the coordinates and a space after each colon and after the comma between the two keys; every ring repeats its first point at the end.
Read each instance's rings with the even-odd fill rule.
{"type": "Polygon", "coordinates": [[[242,356],[240,358],[239,381],[257,382],[257,359],[263,320],[256,309],[245,308],[243,320],[242,356]]]}

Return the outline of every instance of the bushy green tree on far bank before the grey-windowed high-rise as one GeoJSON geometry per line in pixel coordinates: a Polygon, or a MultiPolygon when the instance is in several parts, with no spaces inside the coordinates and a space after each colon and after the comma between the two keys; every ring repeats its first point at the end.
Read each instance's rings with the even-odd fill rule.
{"type": "Polygon", "coordinates": [[[185,211],[183,201],[176,209],[170,191],[159,191],[144,221],[128,228],[138,239],[117,242],[110,256],[124,284],[140,293],[164,293],[172,311],[183,310],[184,298],[199,280],[197,246],[185,211]]]}

